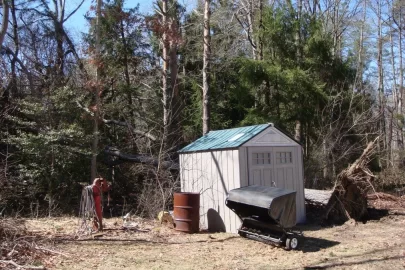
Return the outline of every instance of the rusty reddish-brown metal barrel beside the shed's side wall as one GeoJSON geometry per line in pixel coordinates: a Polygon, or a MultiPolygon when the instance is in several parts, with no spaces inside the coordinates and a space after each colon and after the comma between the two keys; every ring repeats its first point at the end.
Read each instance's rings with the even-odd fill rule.
{"type": "Polygon", "coordinates": [[[200,193],[174,193],[174,228],[177,231],[196,233],[200,230],[200,193]]]}

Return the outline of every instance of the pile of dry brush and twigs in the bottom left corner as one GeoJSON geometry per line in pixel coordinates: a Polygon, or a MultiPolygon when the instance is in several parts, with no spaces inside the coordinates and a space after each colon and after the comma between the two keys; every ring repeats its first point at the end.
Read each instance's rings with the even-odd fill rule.
{"type": "Polygon", "coordinates": [[[46,269],[51,255],[64,255],[47,249],[45,237],[28,233],[20,219],[0,219],[0,269],[46,269]]]}

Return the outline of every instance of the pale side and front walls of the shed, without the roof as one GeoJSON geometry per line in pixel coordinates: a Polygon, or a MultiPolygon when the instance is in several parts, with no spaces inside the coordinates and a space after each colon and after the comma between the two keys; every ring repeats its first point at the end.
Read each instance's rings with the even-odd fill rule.
{"type": "Polygon", "coordinates": [[[200,229],[237,232],[241,221],[226,207],[225,199],[229,190],[255,184],[250,179],[249,168],[249,153],[253,148],[268,149],[273,153],[273,167],[266,169],[268,174],[271,171],[271,181],[261,184],[272,185],[274,181],[278,187],[297,191],[297,221],[305,222],[302,147],[275,127],[269,126],[239,149],[180,154],[181,190],[201,194],[200,229]],[[277,149],[293,149],[293,168],[274,163],[277,149]]]}

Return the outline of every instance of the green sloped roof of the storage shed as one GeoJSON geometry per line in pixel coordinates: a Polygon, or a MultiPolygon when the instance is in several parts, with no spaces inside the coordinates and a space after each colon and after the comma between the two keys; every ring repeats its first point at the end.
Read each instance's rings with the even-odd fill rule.
{"type": "Polygon", "coordinates": [[[210,131],[187,145],[179,153],[198,152],[214,149],[236,148],[262,132],[271,124],[210,131]]]}

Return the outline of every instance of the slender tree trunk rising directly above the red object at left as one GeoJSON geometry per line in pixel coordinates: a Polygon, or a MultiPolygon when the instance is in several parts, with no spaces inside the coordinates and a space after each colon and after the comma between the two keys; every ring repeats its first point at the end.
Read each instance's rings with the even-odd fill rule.
{"type": "Polygon", "coordinates": [[[98,121],[100,118],[100,94],[101,94],[101,57],[100,57],[100,35],[101,35],[101,5],[103,1],[97,0],[97,10],[96,10],[96,87],[95,87],[95,102],[96,108],[94,111],[94,126],[93,126],[93,146],[92,146],[92,159],[91,159],[91,180],[97,176],[97,152],[98,152],[98,140],[99,140],[99,129],[98,121]]]}

